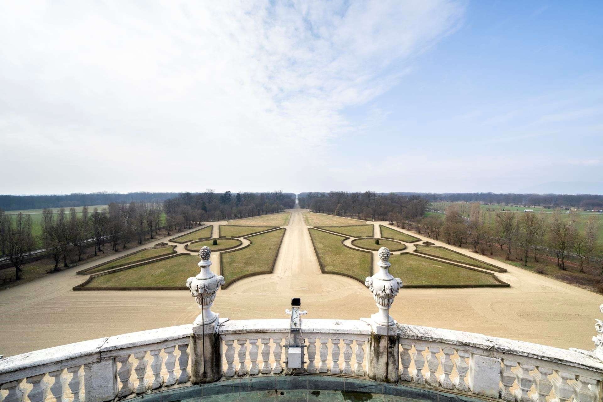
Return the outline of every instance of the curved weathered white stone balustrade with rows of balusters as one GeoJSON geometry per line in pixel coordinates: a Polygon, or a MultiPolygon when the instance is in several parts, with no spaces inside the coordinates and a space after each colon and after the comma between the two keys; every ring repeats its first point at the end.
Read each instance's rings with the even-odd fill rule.
{"type": "MultiPolygon", "coordinates": [[[[603,363],[587,353],[482,334],[397,324],[406,385],[507,402],[601,400],[603,363]]],[[[284,375],[288,319],[223,321],[221,378],[284,375]]],[[[94,339],[0,360],[2,402],[104,402],[190,385],[193,325],[94,339]]],[[[305,319],[303,371],[367,377],[371,325],[305,319]]],[[[211,359],[212,356],[206,356],[211,359]]]]}

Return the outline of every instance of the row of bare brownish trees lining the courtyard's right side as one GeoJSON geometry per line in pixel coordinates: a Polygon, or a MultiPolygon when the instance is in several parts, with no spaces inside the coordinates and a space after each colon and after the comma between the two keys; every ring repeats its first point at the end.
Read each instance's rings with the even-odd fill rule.
{"type": "MultiPolygon", "coordinates": [[[[505,250],[507,260],[515,257],[528,265],[528,258],[538,261],[538,253],[548,251],[556,257],[557,266],[566,269],[568,256],[578,259],[580,272],[584,266],[603,263],[603,247],[599,242],[598,216],[586,221],[584,230],[578,230],[578,215],[544,212],[484,212],[479,203],[470,206],[469,218],[463,215],[459,204],[446,208],[444,216],[430,215],[417,221],[429,237],[443,239],[452,245],[463,244],[473,251],[493,254],[493,247],[505,250]]],[[[410,227],[409,227],[410,228],[410,227]]],[[[603,269],[603,265],[601,266],[603,269]]]]}

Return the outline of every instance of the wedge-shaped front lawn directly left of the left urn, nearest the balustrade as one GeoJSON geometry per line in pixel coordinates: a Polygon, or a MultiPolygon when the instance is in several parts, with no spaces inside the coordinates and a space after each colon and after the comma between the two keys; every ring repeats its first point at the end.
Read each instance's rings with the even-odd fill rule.
{"type": "Polygon", "coordinates": [[[162,287],[186,286],[186,280],[199,273],[197,256],[177,256],[136,268],[93,278],[86,287],[162,287]]]}

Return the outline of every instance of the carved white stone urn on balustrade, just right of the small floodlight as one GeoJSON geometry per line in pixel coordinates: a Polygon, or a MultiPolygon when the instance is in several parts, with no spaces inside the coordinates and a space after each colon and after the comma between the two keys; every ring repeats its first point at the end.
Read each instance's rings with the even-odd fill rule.
{"type": "Polygon", "coordinates": [[[390,250],[387,247],[382,247],[377,252],[377,255],[379,256],[379,262],[377,263],[379,272],[372,277],[367,277],[364,285],[371,291],[377,307],[379,307],[379,312],[371,315],[371,319],[377,325],[390,327],[396,322],[388,314],[388,309],[394,303],[394,297],[396,297],[402,287],[402,280],[394,278],[390,274],[389,269],[391,264],[388,262],[390,259],[390,250]]]}

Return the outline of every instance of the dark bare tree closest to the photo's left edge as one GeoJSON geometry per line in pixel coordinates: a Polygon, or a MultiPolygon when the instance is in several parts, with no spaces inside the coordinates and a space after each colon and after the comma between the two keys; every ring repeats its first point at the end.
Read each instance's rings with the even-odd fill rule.
{"type": "Polygon", "coordinates": [[[5,254],[8,260],[14,266],[14,278],[20,280],[19,273],[21,266],[25,262],[25,257],[31,252],[33,247],[33,237],[31,236],[31,216],[23,215],[19,212],[14,218],[6,215],[5,234],[6,245],[5,254]]]}

